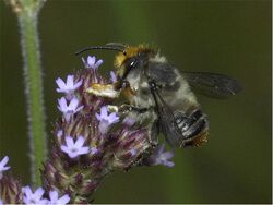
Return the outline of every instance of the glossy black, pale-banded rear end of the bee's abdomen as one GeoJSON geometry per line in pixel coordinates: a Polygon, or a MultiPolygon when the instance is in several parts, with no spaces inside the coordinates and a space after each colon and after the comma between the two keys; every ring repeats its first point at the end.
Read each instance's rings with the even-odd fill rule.
{"type": "MultiPolygon", "coordinates": [[[[190,116],[186,116],[182,112],[177,112],[175,113],[175,119],[182,135],[183,146],[198,146],[198,144],[194,144],[194,140],[197,136],[204,134],[209,130],[209,121],[206,116],[200,109],[197,109],[193,110],[190,116]]],[[[205,140],[206,138],[203,141],[205,140]]]]}

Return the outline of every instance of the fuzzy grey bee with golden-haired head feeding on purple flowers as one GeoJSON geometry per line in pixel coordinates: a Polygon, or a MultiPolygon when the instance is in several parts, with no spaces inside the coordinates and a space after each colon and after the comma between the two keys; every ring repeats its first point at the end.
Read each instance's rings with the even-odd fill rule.
{"type": "Polygon", "coordinates": [[[201,146],[207,141],[209,119],[201,110],[193,89],[215,98],[228,98],[241,91],[240,84],[226,75],[210,72],[180,71],[158,49],[146,45],[129,46],[109,43],[85,48],[118,51],[115,58],[118,81],[112,85],[91,85],[88,93],[118,98],[126,95],[129,110],[139,119],[150,119],[152,141],[163,133],[173,147],[201,146]]]}

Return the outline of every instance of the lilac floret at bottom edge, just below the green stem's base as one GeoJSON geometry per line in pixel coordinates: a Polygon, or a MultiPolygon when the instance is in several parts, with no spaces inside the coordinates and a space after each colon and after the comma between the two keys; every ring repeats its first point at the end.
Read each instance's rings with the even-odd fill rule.
{"type": "Polygon", "coordinates": [[[41,198],[45,193],[43,188],[38,188],[34,193],[29,185],[23,188],[23,202],[25,204],[46,204],[48,201],[46,198],[41,198]]]}

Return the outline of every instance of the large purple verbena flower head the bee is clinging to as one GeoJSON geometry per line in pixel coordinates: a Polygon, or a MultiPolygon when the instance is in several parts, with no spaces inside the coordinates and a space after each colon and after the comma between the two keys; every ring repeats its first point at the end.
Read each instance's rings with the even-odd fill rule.
{"type": "Polygon", "coordinates": [[[70,203],[75,204],[92,202],[94,191],[112,171],[143,166],[157,145],[151,142],[153,123],[143,124],[133,116],[108,111],[109,106],[119,106],[117,100],[87,92],[94,83],[108,85],[116,79],[112,75],[107,81],[98,75],[96,69],[102,61],[88,57],[83,62],[87,69],[74,75],[82,80],[73,93],[76,98],[59,99],[64,118],[55,124],[57,137],[41,172],[46,195],[55,190],[68,194],[70,203]]]}

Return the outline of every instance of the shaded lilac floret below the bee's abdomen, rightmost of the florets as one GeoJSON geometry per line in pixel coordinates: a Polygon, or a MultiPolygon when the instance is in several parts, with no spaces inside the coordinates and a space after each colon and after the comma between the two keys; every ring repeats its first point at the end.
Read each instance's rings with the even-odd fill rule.
{"type": "Polygon", "coordinates": [[[164,144],[159,145],[155,153],[150,156],[149,165],[164,165],[166,167],[174,167],[175,164],[170,161],[170,158],[174,157],[174,153],[171,150],[165,152],[164,144]]]}

